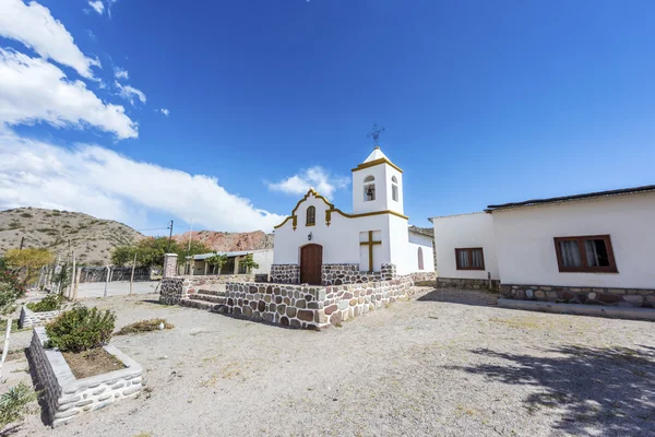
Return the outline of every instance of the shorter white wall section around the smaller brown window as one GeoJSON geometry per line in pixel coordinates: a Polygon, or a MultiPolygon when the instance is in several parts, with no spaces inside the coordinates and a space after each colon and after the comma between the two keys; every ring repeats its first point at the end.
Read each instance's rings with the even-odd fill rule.
{"type": "Polygon", "coordinates": [[[493,238],[493,216],[486,212],[451,215],[432,218],[434,226],[434,248],[437,251],[437,273],[441,277],[486,280],[487,272],[492,280],[499,280],[498,261],[493,238]],[[456,248],[481,247],[485,270],[457,270],[456,248]]]}

